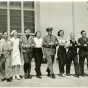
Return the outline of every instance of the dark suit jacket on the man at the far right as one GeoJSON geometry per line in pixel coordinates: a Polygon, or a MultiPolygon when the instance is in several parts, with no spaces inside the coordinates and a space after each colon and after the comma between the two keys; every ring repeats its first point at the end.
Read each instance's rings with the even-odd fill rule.
{"type": "Polygon", "coordinates": [[[78,43],[81,45],[79,46],[79,54],[82,54],[82,56],[85,54],[85,52],[88,52],[88,38],[86,40],[83,39],[83,37],[78,39],[78,43]],[[84,44],[87,44],[87,46],[84,46],[84,44]]]}

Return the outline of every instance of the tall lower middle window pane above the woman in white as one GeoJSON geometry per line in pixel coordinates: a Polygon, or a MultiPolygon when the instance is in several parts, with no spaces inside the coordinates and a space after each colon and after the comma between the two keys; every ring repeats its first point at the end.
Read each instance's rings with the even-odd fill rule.
{"type": "Polygon", "coordinates": [[[10,31],[21,33],[21,10],[10,10],[10,31]]]}

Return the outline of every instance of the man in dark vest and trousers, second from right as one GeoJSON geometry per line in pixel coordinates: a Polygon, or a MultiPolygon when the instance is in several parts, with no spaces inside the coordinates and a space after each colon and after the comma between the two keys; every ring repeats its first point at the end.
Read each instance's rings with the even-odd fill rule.
{"type": "Polygon", "coordinates": [[[79,63],[78,63],[78,54],[77,54],[77,42],[75,40],[75,34],[70,34],[70,41],[68,45],[68,52],[67,52],[67,63],[66,63],[66,73],[68,76],[70,76],[70,67],[71,62],[74,62],[75,67],[75,77],[79,77],[79,63]]]}

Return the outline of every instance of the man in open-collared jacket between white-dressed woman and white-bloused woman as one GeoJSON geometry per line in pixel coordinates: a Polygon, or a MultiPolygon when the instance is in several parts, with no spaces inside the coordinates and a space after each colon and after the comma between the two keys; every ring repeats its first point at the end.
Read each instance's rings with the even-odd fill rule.
{"type": "Polygon", "coordinates": [[[25,79],[30,78],[30,71],[31,71],[31,60],[32,60],[32,54],[33,54],[33,47],[34,39],[32,36],[30,36],[30,29],[25,30],[25,34],[21,37],[21,47],[22,47],[22,53],[24,58],[24,73],[25,73],[25,79]]]}

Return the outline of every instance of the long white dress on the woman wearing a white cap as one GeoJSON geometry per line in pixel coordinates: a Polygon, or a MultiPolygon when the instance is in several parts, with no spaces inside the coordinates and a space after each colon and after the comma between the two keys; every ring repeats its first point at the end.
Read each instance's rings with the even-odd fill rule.
{"type": "Polygon", "coordinates": [[[11,41],[13,43],[12,44],[13,50],[12,50],[12,54],[11,54],[12,66],[14,66],[14,65],[22,65],[21,56],[20,56],[20,50],[19,50],[19,38],[17,38],[17,39],[11,38],[11,41]]]}

